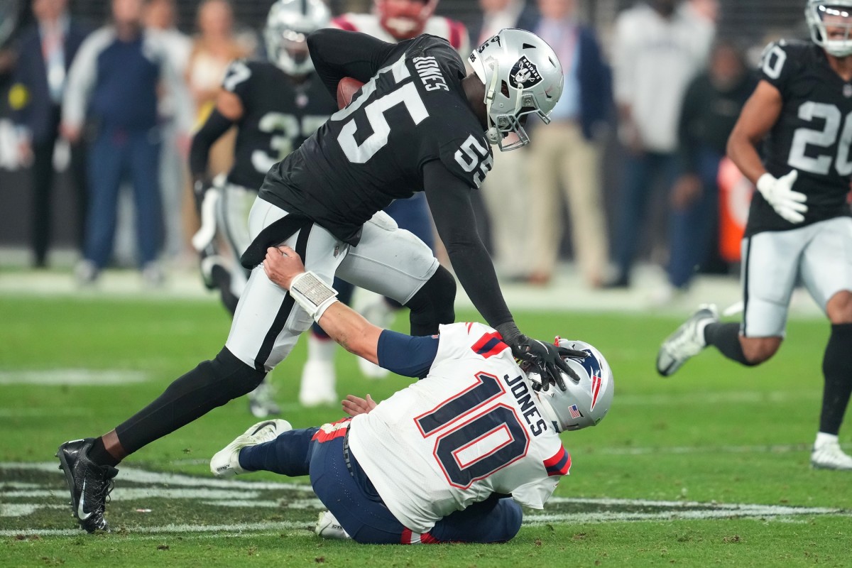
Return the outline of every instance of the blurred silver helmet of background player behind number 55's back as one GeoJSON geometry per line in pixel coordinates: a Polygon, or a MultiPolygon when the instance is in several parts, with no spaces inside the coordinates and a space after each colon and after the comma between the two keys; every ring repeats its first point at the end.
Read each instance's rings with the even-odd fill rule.
{"type": "Polygon", "coordinates": [[[263,29],[268,59],[294,77],[314,71],[308,34],[330,22],[331,12],[322,0],[277,0],[263,29]]]}

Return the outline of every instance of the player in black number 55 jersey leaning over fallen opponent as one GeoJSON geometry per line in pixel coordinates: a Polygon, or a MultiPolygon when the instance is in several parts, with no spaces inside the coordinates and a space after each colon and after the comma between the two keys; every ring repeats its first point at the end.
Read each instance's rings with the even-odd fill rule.
{"type": "MultiPolygon", "coordinates": [[[[579,382],[560,347],[518,330],[470,204],[470,192],[491,168],[490,144],[504,151],[526,144],[529,114],[550,121],[562,91],[553,49],[533,33],[503,30],[470,55],[475,73],[465,76],[462,58],[435,36],[391,44],[324,29],[308,37],[308,47],[331,93],[344,77],[366,84],[263,181],[249,214],[253,240],[242,257],[251,275],[222,351],[109,433],[60,445],[72,510],[87,531],[107,529],[104,509],[118,462],[249,393],[285,359],[331,303],[328,286],[311,284],[317,279],[331,284],[339,274],[394,298],[410,308],[412,336],[434,335],[440,324],[453,321],[452,274],[429,247],[381,212],[415,191],[426,192],[459,281],[498,330],[494,341],[538,366],[539,387],[555,382],[565,390],[566,377],[579,382]],[[516,137],[504,138],[512,133],[516,137]],[[274,284],[261,265],[279,244],[296,250],[309,271],[304,285],[291,292],[274,284]],[[293,294],[316,309],[306,310],[293,294]]],[[[470,382],[479,392],[481,381],[472,376],[470,382]]]]}

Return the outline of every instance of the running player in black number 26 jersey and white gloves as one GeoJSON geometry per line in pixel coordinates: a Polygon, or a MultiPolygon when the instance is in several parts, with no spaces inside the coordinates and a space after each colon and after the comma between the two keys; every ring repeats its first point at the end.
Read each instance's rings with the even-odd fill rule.
{"type": "Polygon", "coordinates": [[[769,45],[728,140],[728,156],[757,186],[742,243],[742,320],[722,323],[716,307],[700,307],[665,340],[657,370],[671,375],[706,345],[741,364],[771,358],[801,278],[832,323],[811,465],[852,470],[838,445],[852,393],[852,0],[809,0],[805,14],[813,42],[769,45]]]}

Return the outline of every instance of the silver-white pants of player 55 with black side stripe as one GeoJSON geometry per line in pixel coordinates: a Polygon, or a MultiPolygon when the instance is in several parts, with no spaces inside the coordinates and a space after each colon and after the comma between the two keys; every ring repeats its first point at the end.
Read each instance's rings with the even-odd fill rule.
{"type": "MultiPolygon", "coordinates": [[[[250,237],[256,238],[264,227],[285,215],[284,209],[256,199],[249,214],[250,237]]],[[[396,227],[382,212],[365,223],[357,247],[337,240],[319,225],[302,228],[284,244],[302,256],[306,269],[328,284],[337,273],[351,284],[402,304],[411,300],[438,269],[429,247],[411,232],[396,227]]],[[[267,278],[262,266],[257,266],[239,298],[225,345],[245,364],[269,371],[290,354],[299,335],[313,321],[286,290],[267,278]]]]}

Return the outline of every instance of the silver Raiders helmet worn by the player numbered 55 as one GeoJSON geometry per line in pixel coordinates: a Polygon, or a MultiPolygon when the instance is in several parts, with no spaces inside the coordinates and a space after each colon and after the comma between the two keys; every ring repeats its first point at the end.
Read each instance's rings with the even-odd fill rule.
{"type": "Polygon", "coordinates": [[[548,115],[562,94],[564,77],[556,53],[534,33],[507,28],[474,49],[468,59],[485,85],[488,141],[503,152],[526,146],[526,115],[550,123],[548,115]],[[517,139],[504,145],[510,134],[517,139]]]}

